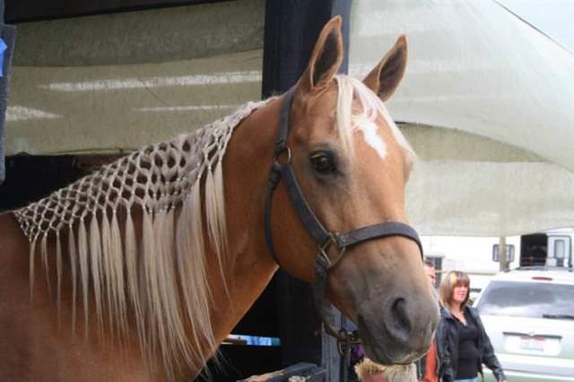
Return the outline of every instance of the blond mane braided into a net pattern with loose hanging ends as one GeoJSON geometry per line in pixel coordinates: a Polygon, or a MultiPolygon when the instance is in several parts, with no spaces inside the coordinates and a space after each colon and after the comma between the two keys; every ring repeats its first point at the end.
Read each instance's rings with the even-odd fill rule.
{"type": "Polygon", "coordinates": [[[91,288],[100,331],[104,305],[108,307],[109,329],[119,336],[126,335],[127,308],[132,308],[140,351],[152,361],[148,364],[153,365],[159,353],[171,376],[173,362],[179,359],[201,369],[209,350],[217,348],[209,312],[203,232],[208,232],[222,271],[227,236],[222,158],[235,127],[265,102],[249,102],[192,134],[148,145],[13,211],[30,241],[30,297],[36,247],[39,243],[48,277],[48,237],[55,237],[60,317],[62,237],[67,236],[73,332],[79,276],[86,334],[91,288]],[[136,213],[141,214],[141,227],[134,224],[132,215],[136,213]],[[191,342],[186,327],[194,336],[191,342]]]}

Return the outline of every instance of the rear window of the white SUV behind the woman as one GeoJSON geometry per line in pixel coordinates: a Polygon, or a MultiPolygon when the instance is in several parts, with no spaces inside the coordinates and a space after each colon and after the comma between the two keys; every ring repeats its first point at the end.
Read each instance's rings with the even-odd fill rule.
{"type": "Polygon", "coordinates": [[[491,282],[476,306],[482,315],[574,317],[574,285],[549,282],[491,282]]]}

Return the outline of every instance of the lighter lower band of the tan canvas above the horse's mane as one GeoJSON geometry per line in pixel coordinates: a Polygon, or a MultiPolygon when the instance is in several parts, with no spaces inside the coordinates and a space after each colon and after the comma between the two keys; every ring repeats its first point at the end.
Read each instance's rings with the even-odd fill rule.
{"type": "Polygon", "coordinates": [[[257,100],[262,51],[162,64],[13,67],[6,155],[121,153],[257,100]]]}

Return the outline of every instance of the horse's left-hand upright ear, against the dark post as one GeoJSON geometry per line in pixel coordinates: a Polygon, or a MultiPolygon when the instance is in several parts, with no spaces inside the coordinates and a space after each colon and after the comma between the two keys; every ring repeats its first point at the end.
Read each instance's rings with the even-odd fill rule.
{"type": "Polygon", "coordinates": [[[339,70],[343,62],[341,23],[341,16],[335,16],[321,30],[309,65],[301,75],[300,90],[311,91],[326,86],[339,70]]]}

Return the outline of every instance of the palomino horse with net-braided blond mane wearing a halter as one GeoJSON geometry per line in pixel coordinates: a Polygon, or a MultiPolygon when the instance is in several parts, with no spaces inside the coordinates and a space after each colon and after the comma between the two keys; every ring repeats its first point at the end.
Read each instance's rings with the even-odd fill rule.
{"type": "Polygon", "coordinates": [[[0,216],[0,380],[194,378],[278,264],[323,279],[370,359],[426,352],[438,308],[404,224],[413,152],[382,102],[406,42],[359,82],[336,74],[340,26],[288,95],[0,216]]]}

